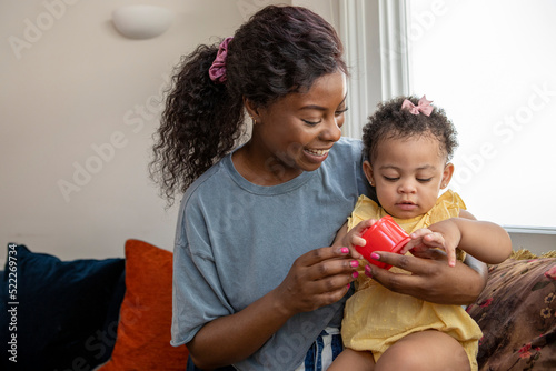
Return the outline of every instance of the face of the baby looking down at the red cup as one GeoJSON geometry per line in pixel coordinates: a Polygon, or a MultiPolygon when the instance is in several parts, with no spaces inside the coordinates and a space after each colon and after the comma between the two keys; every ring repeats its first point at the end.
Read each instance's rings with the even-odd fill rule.
{"type": "Polygon", "coordinates": [[[380,141],[371,162],[365,161],[364,171],[376,187],[380,205],[393,217],[410,219],[435,205],[454,166],[446,164],[439,141],[428,133],[380,141]]]}

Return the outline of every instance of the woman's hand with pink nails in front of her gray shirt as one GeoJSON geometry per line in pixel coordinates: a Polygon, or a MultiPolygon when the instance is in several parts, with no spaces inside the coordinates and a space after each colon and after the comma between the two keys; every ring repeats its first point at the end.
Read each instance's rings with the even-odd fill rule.
{"type": "Polygon", "coordinates": [[[274,291],[286,315],[312,311],[340,300],[357,278],[358,265],[347,247],[316,249],[299,257],[274,291]]]}

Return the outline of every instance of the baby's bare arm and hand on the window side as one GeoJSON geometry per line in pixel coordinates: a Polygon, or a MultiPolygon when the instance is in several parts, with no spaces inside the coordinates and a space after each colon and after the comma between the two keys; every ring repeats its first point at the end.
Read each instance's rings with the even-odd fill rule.
{"type": "Polygon", "coordinates": [[[440,248],[448,255],[448,263],[455,264],[455,249],[459,248],[474,258],[497,264],[512,253],[512,240],[498,224],[478,221],[466,210],[459,218],[450,218],[411,233],[411,241],[404,248],[410,249],[440,248]]]}

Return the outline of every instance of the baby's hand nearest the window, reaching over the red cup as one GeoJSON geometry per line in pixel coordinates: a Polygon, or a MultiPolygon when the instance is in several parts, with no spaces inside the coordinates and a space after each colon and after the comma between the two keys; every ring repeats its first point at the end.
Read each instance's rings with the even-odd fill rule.
{"type": "Polygon", "coordinates": [[[407,251],[419,253],[429,249],[441,249],[446,251],[448,265],[456,265],[456,247],[461,239],[461,234],[455,223],[441,221],[430,225],[428,229],[418,229],[409,237],[411,240],[400,250],[401,254],[405,254],[407,251]]]}

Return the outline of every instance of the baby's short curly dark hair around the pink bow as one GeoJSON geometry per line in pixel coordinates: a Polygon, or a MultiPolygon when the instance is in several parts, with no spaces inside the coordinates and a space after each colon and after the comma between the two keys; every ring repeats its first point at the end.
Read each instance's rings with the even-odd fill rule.
{"type": "Polygon", "coordinates": [[[458,146],[457,131],[444,109],[434,107],[428,117],[423,113],[413,114],[407,109],[401,109],[406,99],[416,106],[419,100],[415,96],[397,97],[379,103],[377,111],[369,117],[363,128],[364,153],[368,160],[373,162],[378,144],[386,139],[433,134],[438,139],[446,161],[449,161],[458,146]]]}

